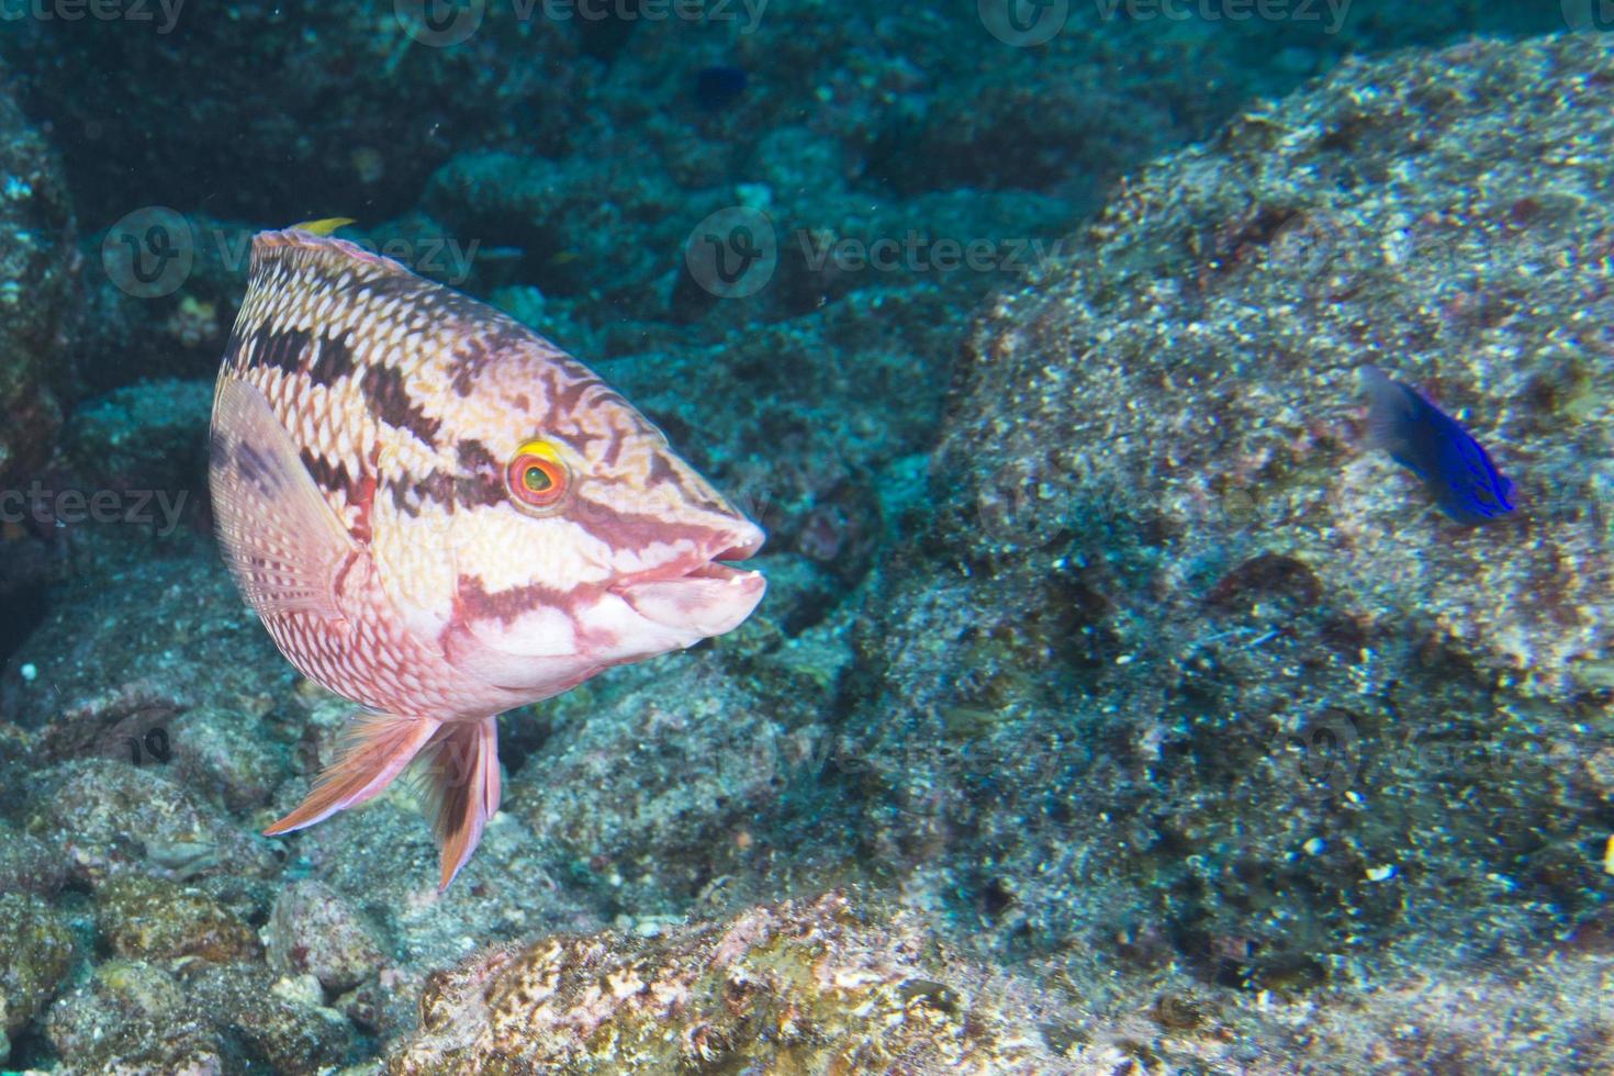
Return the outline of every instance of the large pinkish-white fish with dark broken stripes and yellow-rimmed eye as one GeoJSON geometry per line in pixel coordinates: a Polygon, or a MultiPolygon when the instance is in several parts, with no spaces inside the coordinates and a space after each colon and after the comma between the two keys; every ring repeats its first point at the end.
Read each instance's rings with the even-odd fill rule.
{"type": "Polygon", "coordinates": [[[736,628],[762,531],[575,358],[402,265],[261,232],[213,398],[218,537],[307,678],[363,707],[268,834],[421,760],[447,887],[499,807],[495,716],[736,628]]]}

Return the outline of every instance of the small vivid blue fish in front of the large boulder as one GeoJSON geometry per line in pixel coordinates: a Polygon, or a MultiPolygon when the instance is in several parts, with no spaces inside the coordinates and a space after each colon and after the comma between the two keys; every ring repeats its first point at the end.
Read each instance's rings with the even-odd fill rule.
{"type": "Polygon", "coordinates": [[[1509,515],[1512,482],[1457,419],[1377,366],[1356,371],[1367,392],[1367,439],[1424,479],[1435,503],[1464,524],[1509,515]]]}

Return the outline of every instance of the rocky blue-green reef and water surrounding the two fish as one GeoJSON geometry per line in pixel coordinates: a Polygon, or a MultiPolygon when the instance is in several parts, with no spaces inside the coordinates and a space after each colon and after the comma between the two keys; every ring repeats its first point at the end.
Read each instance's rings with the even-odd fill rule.
{"type": "Polygon", "coordinates": [[[0,0],[0,73],[6,1070],[1614,1071],[1606,0],[0,0]],[[768,532],[500,718],[445,892],[407,787],[261,836],[353,707],[208,421],[323,218],[768,532]]]}

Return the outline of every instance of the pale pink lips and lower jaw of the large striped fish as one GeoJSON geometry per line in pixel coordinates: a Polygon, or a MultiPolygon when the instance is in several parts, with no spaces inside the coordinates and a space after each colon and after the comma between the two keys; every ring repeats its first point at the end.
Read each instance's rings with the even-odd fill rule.
{"type": "Polygon", "coordinates": [[[767,590],[760,571],[723,561],[749,560],[762,548],[763,534],[751,526],[715,544],[717,552],[663,565],[610,586],[647,621],[692,632],[691,642],[738,628],[757,608],[767,590]]]}

